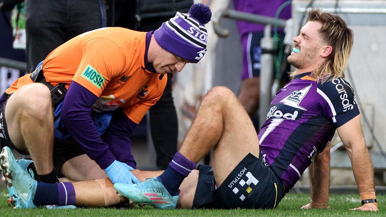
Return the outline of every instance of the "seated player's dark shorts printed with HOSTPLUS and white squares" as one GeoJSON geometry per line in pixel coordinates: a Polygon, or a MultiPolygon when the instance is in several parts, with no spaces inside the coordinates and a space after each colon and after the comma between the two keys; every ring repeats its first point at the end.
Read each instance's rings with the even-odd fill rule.
{"type": "Polygon", "coordinates": [[[193,208],[274,209],[284,197],[279,177],[259,158],[249,153],[216,187],[211,166],[200,165],[193,208]]]}

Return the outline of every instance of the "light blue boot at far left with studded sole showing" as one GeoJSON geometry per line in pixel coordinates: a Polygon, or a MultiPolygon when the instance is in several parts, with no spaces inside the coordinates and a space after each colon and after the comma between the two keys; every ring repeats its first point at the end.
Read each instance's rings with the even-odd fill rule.
{"type": "Polygon", "coordinates": [[[36,208],[32,200],[35,197],[37,181],[33,180],[17,163],[9,147],[3,147],[0,165],[10,198],[8,203],[14,208],[36,208]]]}

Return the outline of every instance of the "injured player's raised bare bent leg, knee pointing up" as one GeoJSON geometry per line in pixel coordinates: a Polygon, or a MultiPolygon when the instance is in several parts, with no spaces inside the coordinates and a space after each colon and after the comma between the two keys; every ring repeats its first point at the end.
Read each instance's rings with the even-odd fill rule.
{"type": "Polygon", "coordinates": [[[259,139],[251,119],[232,91],[221,86],[204,97],[179,152],[198,162],[213,147],[217,186],[248,153],[259,156],[259,139]]]}

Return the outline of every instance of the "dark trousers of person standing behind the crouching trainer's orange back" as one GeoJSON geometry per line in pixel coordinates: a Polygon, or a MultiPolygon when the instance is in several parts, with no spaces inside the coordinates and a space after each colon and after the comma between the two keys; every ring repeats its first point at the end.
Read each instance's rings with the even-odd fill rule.
{"type": "Polygon", "coordinates": [[[36,65],[69,39],[105,25],[105,0],[25,0],[27,66],[36,65]]]}

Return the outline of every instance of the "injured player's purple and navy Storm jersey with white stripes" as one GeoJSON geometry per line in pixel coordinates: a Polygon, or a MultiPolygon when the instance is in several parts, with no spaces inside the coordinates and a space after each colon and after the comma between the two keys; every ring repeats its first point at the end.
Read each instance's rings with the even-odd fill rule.
{"type": "Polygon", "coordinates": [[[258,135],[260,157],[281,178],[286,192],[331,141],[335,129],[359,115],[347,81],[321,84],[309,75],[295,76],[276,93],[258,135]]]}

